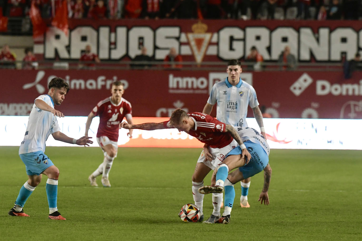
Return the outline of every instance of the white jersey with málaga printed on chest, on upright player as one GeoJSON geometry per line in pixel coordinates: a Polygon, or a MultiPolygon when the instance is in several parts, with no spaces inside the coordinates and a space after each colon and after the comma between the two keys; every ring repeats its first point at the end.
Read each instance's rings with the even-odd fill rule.
{"type": "Polygon", "coordinates": [[[259,105],[253,86],[240,78],[236,86],[232,86],[228,78],[212,86],[207,103],[216,107],[216,119],[231,126],[248,127],[246,117],[248,106],[251,108],[259,105]]]}

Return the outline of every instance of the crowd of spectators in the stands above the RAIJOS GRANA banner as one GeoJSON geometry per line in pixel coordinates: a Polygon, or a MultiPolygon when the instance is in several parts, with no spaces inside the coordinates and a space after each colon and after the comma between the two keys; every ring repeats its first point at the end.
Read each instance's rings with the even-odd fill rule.
{"type": "MultiPolygon", "coordinates": [[[[1,0],[0,0],[1,1],[1,0]]],[[[3,15],[28,15],[35,1],[43,18],[62,0],[2,0],[3,15]]],[[[69,18],[317,19],[358,20],[360,0],[67,0],[69,18]],[[293,14],[293,12],[295,14],[293,14]],[[291,13],[291,14],[290,14],[291,13]]]]}

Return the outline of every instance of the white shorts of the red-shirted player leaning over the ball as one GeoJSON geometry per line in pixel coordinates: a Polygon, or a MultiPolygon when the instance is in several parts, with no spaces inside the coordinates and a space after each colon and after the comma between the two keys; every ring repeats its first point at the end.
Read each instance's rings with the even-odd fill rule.
{"type": "Polygon", "coordinates": [[[227,145],[224,146],[222,148],[211,148],[209,146],[209,152],[212,155],[212,162],[206,160],[205,158],[205,154],[203,153],[203,151],[201,152],[201,155],[199,157],[199,159],[197,160],[197,162],[202,162],[205,165],[207,165],[208,167],[210,167],[212,170],[214,170],[216,167],[218,167],[219,165],[221,165],[223,163],[223,161],[226,158],[226,155],[235,147],[239,146],[239,144],[237,144],[237,142],[235,140],[232,140],[232,142],[227,145]]]}

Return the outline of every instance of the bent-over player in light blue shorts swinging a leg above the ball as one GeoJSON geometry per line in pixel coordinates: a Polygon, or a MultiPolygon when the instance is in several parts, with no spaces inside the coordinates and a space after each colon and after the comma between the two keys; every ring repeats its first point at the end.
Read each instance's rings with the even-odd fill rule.
{"type": "Polygon", "coordinates": [[[214,186],[203,186],[199,188],[199,193],[222,193],[225,190],[225,209],[223,215],[215,220],[215,223],[230,223],[231,208],[235,198],[234,184],[238,181],[252,177],[264,170],[264,187],[259,195],[258,201],[269,205],[268,189],[271,177],[269,165],[269,145],[266,139],[253,128],[238,127],[237,132],[244,145],[238,146],[227,154],[224,162],[215,169],[216,184],[214,186]],[[243,158],[242,149],[250,152],[250,161],[243,158]],[[229,170],[235,169],[228,175],[229,170]]]}

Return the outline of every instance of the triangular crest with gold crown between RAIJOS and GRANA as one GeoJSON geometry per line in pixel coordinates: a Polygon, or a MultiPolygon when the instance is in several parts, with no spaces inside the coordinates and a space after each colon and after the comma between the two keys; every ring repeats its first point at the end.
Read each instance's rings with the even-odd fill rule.
{"type": "Polygon", "coordinates": [[[212,33],[206,33],[207,25],[199,21],[192,25],[193,33],[187,33],[187,38],[195,60],[198,64],[202,62],[207,46],[209,46],[212,33]]]}

